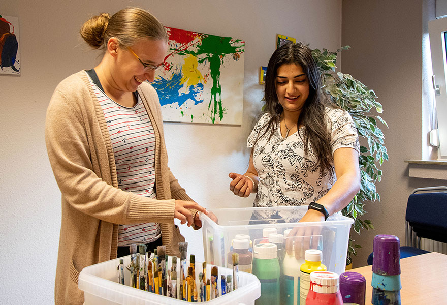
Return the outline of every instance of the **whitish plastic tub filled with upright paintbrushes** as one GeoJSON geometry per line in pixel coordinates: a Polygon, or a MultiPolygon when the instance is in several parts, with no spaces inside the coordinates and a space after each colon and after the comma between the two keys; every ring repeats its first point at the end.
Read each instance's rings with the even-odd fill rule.
{"type": "MultiPolygon", "coordinates": [[[[153,255],[153,254],[152,254],[153,255]]],[[[130,256],[121,257],[124,266],[130,264],[130,256]]],[[[178,258],[177,258],[178,259],[178,258]]],[[[187,258],[189,266],[189,257],[187,258]]],[[[179,260],[177,260],[179,262],[179,260]]],[[[139,290],[128,286],[130,272],[124,267],[125,285],[118,283],[119,258],[95,264],[82,269],[79,275],[78,287],[84,291],[85,305],[149,305],[149,304],[186,304],[187,301],[158,295],[152,292],[139,290]]],[[[169,268],[171,257],[169,257],[169,268]]],[[[207,278],[211,276],[211,264],[207,264],[207,278]]],[[[179,267],[177,268],[180,275],[179,267]]],[[[202,263],[196,262],[196,281],[199,281],[199,272],[202,272],[202,263]]],[[[220,275],[232,275],[233,269],[218,267],[219,284],[220,275]]],[[[220,295],[216,299],[202,302],[203,304],[254,304],[254,300],[261,295],[261,285],[257,277],[249,273],[239,272],[239,287],[230,293],[220,295]]],[[[177,281],[178,283],[178,281],[177,281]]],[[[220,285],[218,285],[219,287],[220,285]]],[[[220,288],[220,287],[219,287],[220,288]]],[[[190,303],[190,302],[189,302],[190,303]]]]}

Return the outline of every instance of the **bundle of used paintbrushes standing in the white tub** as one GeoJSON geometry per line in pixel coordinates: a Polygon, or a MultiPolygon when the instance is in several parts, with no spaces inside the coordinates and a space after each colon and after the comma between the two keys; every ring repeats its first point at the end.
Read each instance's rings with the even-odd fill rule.
{"type": "MultiPolygon", "coordinates": [[[[186,264],[188,250],[187,242],[179,243],[180,259],[166,255],[166,247],[159,246],[154,254],[146,253],[146,245],[130,247],[130,264],[126,267],[130,272],[129,282],[124,279],[123,259],[118,265],[118,283],[148,292],[176,298],[188,302],[205,302],[227,294],[236,289],[238,258],[233,258],[233,270],[219,275],[219,269],[212,266],[207,272],[207,263],[202,264],[202,272],[196,273],[196,257],[189,256],[189,266],[186,264]],[[138,251],[137,251],[138,250],[138,251]],[[196,278],[197,274],[197,278],[196,278]]],[[[200,265],[199,265],[200,266],[200,265]]]]}

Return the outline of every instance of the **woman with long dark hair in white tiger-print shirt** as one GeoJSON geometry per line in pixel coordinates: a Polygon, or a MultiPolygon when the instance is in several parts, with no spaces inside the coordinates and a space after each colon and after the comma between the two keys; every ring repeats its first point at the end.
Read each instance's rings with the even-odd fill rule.
{"type": "Polygon", "coordinates": [[[285,44],[269,60],[265,110],[248,137],[248,170],[230,190],[253,206],[309,205],[302,222],[325,221],[360,189],[359,141],[350,115],[328,101],[311,50],[285,44]]]}

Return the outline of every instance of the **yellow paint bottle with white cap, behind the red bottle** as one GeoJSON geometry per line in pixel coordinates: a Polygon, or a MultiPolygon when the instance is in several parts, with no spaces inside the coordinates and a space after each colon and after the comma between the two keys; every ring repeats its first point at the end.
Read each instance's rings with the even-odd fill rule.
{"type": "MultiPolygon", "coordinates": [[[[326,271],[326,266],[321,263],[323,253],[317,249],[307,249],[304,252],[304,264],[300,267],[300,304],[306,304],[306,297],[310,285],[310,273],[313,271],[326,271]]],[[[337,280],[338,281],[338,280],[337,280]]]]}

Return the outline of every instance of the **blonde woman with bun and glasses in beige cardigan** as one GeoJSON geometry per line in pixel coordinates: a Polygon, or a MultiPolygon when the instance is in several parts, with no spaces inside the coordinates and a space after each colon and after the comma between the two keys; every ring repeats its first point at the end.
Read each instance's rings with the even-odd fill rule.
{"type": "Polygon", "coordinates": [[[206,212],[168,167],[158,96],[148,83],[163,67],[167,35],[149,12],[126,8],[86,21],[82,38],[101,63],[61,81],[46,118],[48,156],[62,194],[55,303],[82,304],[86,266],[129,254],[129,245],[184,241],[174,219],[201,226],[206,212]]]}

